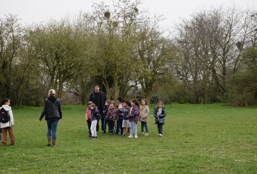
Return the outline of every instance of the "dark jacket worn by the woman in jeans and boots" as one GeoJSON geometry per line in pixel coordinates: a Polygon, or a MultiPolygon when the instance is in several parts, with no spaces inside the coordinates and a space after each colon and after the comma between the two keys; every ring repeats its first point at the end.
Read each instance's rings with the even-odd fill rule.
{"type": "Polygon", "coordinates": [[[50,96],[44,100],[44,109],[41,113],[40,120],[42,118],[47,120],[48,118],[62,119],[62,110],[60,108],[60,100],[54,96],[50,96]]]}

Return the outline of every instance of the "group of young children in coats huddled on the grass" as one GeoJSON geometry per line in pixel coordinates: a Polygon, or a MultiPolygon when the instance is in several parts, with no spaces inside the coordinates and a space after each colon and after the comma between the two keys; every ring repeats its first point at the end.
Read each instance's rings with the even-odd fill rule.
{"type": "MultiPolygon", "coordinates": [[[[158,102],[154,109],[155,123],[158,125],[158,136],[163,136],[163,125],[165,123],[166,111],[163,107],[163,102],[158,102]]],[[[141,134],[148,136],[149,129],[147,122],[149,121],[149,106],[147,100],[122,100],[122,97],[117,98],[117,102],[106,100],[103,112],[100,114],[97,106],[91,101],[88,102],[85,119],[88,123],[90,139],[97,139],[97,121],[103,120],[103,133],[120,134],[122,136],[129,132],[128,138],[138,139],[138,120],[141,122],[141,134]],[[103,119],[101,119],[103,118],[103,119]],[[144,134],[144,128],[146,133],[144,134]],[[134,136],[133,136],[134,135],[134,136]]]]}

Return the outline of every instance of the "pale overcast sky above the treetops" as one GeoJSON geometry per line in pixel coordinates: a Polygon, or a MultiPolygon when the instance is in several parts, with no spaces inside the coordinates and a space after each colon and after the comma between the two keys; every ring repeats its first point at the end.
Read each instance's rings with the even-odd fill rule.
{"type": "MultiPolygon", "coordinates": [[[[47,22],[67,15],[76,15],[79,11],[91,10],[92,2],[101,0],[0,0],[0,17],[11,13],[18,15],[22,24],[47,22]]],[[[112,0],[105,1],[108,5],[112,0]]],[[[257,0],[143,0],[142,7],[149,13],[163,15],[163,27],[172,26],[180,18],[188,18],[199,9],[220,6],[236,6],[257,10],[257,0]]]]}

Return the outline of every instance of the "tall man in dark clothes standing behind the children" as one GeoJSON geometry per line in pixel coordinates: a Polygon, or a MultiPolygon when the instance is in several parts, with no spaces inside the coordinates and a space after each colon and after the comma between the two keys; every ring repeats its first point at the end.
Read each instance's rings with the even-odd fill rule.
{"type": "MultiPolygon", "coordinates": [[[[99,84],[94,85],[94,92],[90,94],[89,101],[97,105],[99,113],[101,114],[101,129],[103,130],[103,109],[106,104],[106,94],[100,90],[99,84]]],[[[97,132],[99,131],[99,120],[97,120],[97,132]]]]}

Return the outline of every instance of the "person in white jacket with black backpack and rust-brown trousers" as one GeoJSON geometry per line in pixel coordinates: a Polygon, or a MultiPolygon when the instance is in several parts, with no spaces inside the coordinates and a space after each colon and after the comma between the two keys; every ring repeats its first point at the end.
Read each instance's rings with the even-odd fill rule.
{"type": "Polygon", "coordinates": [[[15,123],[9,99],[1,100],[0,112],[0,128],[3,136],[2,143],[3,145],[7,144],[7,132],[9,132],[11,145],[15,145],[15,136],[13,134],[13,126],[15,123]],[[5,118],[7,118],[7,120],[5,118]]]}

